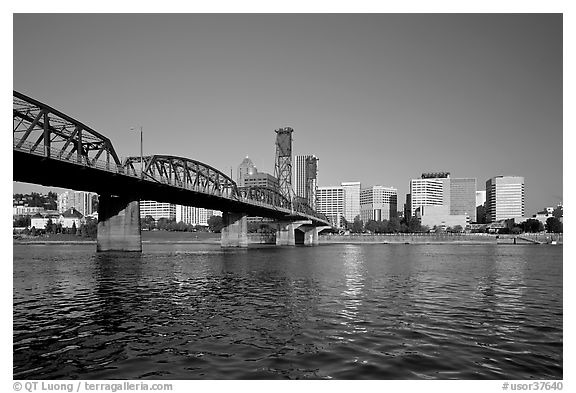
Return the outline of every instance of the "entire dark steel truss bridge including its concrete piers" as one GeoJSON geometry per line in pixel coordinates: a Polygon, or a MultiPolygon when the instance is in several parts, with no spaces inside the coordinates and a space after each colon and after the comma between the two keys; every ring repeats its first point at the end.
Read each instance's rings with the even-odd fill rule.
{"type": "Polygon", "coordinates": [[[110,139],[16,91],[13,114],[14,180],[98,193],[98,251],[142,250],[139,201],[146,199],[221,210],[222,247],[247,247],[247,216],[274,219],[277,245],[294,245],[296,230],[304,244],[316,245],[318,231],[332,226],[306,203],[294,202],[286,188],[238,187],[218,169],[190,158],[121,161],[110,139]]]}

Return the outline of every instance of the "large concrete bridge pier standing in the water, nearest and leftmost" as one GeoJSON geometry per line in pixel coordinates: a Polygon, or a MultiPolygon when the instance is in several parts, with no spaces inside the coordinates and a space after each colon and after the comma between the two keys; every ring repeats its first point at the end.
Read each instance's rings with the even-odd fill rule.
{"type": "Polygon", "coordinates": [[[140,201],[100,195],[96,251],[142,252],[140,201]]]}

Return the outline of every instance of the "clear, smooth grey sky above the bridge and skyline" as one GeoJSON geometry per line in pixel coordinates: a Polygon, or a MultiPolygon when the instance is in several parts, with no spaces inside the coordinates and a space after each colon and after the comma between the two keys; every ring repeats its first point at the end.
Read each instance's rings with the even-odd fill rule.
{"type": "MultiPolygon", "coordinates": [[[[108,136],[273,173],[274,130],[320,186],[448,171],[562,198],[561,14],[15,14],[14,89],[108,136]]],[[[64,174],[63,174],[64,175],[64,174]]],[[[14,183],[15,192],[45,190],[14,183]]]]}

